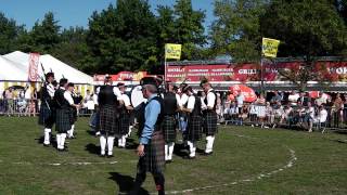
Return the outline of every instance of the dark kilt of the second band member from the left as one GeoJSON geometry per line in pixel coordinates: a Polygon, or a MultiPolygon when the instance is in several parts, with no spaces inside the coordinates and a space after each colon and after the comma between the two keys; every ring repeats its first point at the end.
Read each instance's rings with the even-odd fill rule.
{"type": "Polygon", "coordinates": [[[66,133],[72,129],[72,112],[69,108],[56,109],[55,130],[59,133],[66,133]]]}

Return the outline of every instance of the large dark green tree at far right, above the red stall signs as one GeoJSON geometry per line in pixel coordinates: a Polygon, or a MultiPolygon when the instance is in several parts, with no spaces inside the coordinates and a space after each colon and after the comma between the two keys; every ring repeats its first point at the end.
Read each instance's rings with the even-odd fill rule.
{"type": "Polygon", "coordinates": [[[326,0],[273,0],[261,17],[265,37],[282,41],[279,56],[301,56],[298,70],[280,74],[305,90],[310,80],[325,82],[314,72],[316,56],[343,55],[347,49],[347,29],[331,1],[326,0]]]}

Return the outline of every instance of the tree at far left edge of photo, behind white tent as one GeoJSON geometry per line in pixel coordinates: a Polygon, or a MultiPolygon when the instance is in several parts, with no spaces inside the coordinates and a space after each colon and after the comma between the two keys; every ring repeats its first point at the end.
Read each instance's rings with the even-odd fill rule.
{"type": "Polygon", "coordinates": [[[16,50],[18,37],[23,32],[23,26],[17,26],[14,20],[9,20],[3,13],[0,13],[0,54],[16,50]]]}

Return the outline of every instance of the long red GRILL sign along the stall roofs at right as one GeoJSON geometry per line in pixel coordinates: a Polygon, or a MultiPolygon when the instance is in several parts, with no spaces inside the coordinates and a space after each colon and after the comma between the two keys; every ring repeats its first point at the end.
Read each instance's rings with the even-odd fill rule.
{"type": "MultiPolygon", "coordinates": [[[[264,65],[265,81],[287,81],[279,70],[290,70],[295,75],[299,73],[300,62],[284,62],[264,65]]],[[[347,62],[318,62],[314,72],[331,81],[347,81],[347,62]]],[[[217,65],[169,65],[166,66],[167,80],[174,82],[201,81],[259,81],[259,64],[217,64],[217,65]]]]}

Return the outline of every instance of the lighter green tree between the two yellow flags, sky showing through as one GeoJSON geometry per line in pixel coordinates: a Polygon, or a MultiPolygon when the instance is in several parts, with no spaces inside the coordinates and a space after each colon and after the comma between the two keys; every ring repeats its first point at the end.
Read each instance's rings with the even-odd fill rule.
{"type": "Polygon", "coordinates": [[[210,38],[215,55],[231,55],[235,62],[259,62],[260,16],[267,0],[216,0],[210,38]]]}

